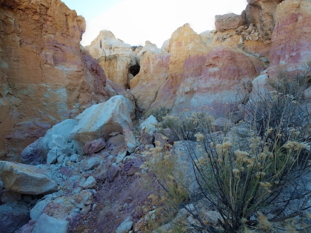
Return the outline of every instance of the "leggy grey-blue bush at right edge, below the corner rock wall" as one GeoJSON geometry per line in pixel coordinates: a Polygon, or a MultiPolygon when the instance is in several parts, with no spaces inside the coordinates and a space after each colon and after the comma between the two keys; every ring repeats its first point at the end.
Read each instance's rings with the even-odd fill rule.
{"type": "Polygon", "coordinates": [[[255,129],[260,137],[265,136],[269,129],[268,140],[278,140],[282,145],[293,137],[300,141],[308,140],[310,135],[306,129],[310,128],[311,116],[304,90],[309,81],[303,77],[301,73],[295,78],[282,74],[273,84],[269,81],[274,90],[253,90],[249,102],[243,106],[248,115],[248,127],[255,129]]]}

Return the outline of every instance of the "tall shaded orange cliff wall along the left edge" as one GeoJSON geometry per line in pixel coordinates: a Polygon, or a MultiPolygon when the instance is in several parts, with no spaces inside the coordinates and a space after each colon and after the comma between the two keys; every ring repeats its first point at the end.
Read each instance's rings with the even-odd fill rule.
{"type": "Polygon", "coordinates": [[[60,0],[0,0],[0,159],[107,99],[104,71],[79,45],[84,31],[60,0]]]}

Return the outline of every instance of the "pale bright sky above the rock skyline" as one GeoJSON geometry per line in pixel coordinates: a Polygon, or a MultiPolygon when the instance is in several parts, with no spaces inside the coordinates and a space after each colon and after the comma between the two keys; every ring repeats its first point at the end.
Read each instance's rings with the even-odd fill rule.
{"type": "Polygon", "coordinates": [[[109,30],[132,46],[149,40],[161,48],[178,28],[189,23],[201,33],[215,29],[215,15],[240,14],[246,0],[62,0],[86,21],[81,44],[109,30]]]}

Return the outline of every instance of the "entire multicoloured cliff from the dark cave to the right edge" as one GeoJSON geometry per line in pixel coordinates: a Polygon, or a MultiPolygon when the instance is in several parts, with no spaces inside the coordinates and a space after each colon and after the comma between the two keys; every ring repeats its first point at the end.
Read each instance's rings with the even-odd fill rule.
{"type": "Polygon", "coordinates": [[[208,105],[223,111],[227,103],[234,109],[251,91],[245,83],[263,70],[273,77],[280,68],[300,68],[311,60],[310,4],[248,0],[241,15],[217,15],[217,31],[197,34],[185,24],[167,50],[148,52],[146,44],[137,57],[140,72],[130,82],[140,110],[208,105]]]}

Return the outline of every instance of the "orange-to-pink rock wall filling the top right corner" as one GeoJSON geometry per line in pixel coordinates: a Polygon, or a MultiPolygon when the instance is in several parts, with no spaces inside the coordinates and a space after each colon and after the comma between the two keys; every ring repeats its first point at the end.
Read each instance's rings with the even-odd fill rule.
{"type": "Polygon", "coordinates": [[[311,61],[311,1],[284,0],[276,9],[269,77],[278,70],[300,69],[311,61]]]}

